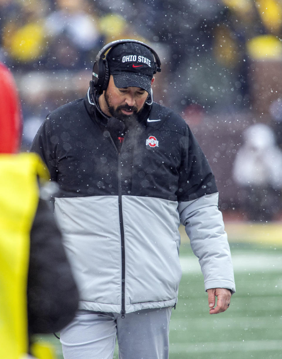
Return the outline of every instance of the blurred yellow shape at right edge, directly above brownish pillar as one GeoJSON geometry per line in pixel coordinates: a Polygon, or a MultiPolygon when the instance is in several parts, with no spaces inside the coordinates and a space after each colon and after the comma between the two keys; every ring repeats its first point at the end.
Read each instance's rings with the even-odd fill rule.
{"type": "Polygon", "coordinates": [[[281,60],[282,43],[272,35],[256,36],[246,44],[248,55],[253,60],[281,60]]]}

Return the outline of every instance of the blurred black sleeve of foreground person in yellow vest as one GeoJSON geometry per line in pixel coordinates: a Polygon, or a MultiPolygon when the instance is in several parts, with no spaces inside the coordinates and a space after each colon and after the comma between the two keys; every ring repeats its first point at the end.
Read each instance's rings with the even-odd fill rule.
{"type": "Polygon", "coordinates": [[[39,200],[31,229],[28,270],[29,334],[61,330],[78,308],[78,289],[48,201],[39,200]]]}

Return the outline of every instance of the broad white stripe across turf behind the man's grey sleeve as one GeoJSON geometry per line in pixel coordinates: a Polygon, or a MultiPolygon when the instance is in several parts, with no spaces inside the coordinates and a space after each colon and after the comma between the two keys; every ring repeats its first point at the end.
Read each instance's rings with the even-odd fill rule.
{"type": "MultiPolygon", "coordinates": [[[[234,271],[273,271],[282,272],[281,255],[263,255],[253,253],[242,253],[232,255],[234,271]]],[[[196,256],[180,256],[180,264],[183,273],[200,273],[200,265],[196,256]]]]}

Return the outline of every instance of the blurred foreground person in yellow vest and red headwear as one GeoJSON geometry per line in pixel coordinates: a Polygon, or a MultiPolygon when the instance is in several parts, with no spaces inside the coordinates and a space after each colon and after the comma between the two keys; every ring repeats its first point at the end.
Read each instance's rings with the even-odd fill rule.
{"type": "Polygon", "coordinates": [[[32,335],[61,330],[78,306],[50,207],[56,185],[39,156],[17,153],[21,131],[15,81],[0,63],[0,357],[5,359],[32,350],[40,354],[32,335]]]}

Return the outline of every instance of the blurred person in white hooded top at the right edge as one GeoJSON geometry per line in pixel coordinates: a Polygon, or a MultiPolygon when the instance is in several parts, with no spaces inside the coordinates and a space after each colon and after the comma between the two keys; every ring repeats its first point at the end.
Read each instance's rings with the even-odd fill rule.
{"type": "Polygon", "coordinates": [[[245,219],[278,219],[282,205],[282,150],[276,144],[274,131],[257,123],[243,132],[243,140],[233,169],[239,185],[239,207],[245,219]]]}

